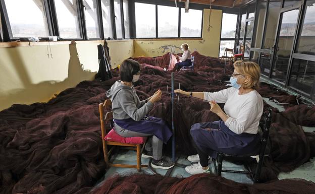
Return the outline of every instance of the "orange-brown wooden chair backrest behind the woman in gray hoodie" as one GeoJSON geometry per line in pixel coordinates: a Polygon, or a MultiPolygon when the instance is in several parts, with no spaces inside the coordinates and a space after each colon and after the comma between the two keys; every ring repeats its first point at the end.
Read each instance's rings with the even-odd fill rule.
{"type": "Polygon", "coordinates": [[[108,110],[108,108],[111,108],[112,101],[111,100],[105,100],[104,103],[98,104],[98,110],[99,110],[99,119],[100,119],[100,128],[102,133],[102,138],[104,138],[107,134],[107,129],[105,124],[109,124],[110,128],[113,128],[113,112],[107,112],[104,116],[104,111],[108,110]]]}

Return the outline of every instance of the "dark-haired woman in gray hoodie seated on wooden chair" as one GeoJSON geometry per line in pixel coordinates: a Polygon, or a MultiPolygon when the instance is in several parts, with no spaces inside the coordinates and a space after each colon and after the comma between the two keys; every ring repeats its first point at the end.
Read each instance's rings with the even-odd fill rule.
{"type": "Polygon", "coordinates": [[[161,100],[162,92],[158,90],[153,96],[140,101],[133,82],[140,77],[140,64],[132,59],[126,59],[120,66],[121,80],[115,82],[106,92],[112,100],[114,130],[122,137],[149,137],[142,157],[153,158],[153,168],[169,169],[174,162],[163,158],[163,143],[171,138],[170,128],[161,118],[146,116],[155,102],[161,100]]]}

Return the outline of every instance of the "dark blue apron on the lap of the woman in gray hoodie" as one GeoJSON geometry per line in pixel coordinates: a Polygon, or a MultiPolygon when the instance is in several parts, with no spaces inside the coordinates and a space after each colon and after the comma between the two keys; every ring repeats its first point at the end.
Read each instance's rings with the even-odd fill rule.
{"type": "Polygon", "coordinates": [[[153,116],[145,116],[139,121],[135,121],[132,118],[114,119],[114,122],[129,131],[154,135],[165,144],[172,136],[172,132],[165,121],[153,116]]]}

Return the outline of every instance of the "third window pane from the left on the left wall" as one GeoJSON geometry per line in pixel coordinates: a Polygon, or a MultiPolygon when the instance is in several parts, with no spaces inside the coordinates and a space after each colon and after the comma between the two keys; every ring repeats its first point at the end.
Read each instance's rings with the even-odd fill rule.
{"type": "Polygon", "coordinates": [[[84,16],[88,38],[99,38],[96,0],[84,0],[84,16]]]}

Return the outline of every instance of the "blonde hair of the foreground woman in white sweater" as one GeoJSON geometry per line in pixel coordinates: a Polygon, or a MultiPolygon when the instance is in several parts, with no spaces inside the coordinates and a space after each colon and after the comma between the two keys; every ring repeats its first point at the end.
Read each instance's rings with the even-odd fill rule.
{"type": "Polygon", "coordinates": [[[248,80],[245,80],[242,84],[244,89],[258,89],[259,87],[259,78],[260,78],[260,67],[257,63],[252,61],[242,61],[237,60],[234,62],[234,68],[235,70],[244,75],[247,76],[248,80]]]}

